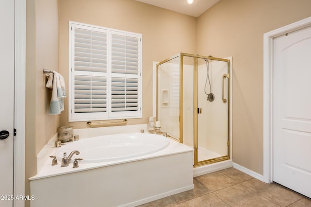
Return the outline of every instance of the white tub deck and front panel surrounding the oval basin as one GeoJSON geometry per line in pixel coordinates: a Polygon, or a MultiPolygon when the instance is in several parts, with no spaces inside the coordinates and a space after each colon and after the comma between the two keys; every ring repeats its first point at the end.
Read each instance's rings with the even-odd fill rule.
{"type": "MultiPolygon", "coordinates": [[[[87,136],[105,133],[139,133],[140,129],[146,131],[146,124],[78,129],[73,130],[73,134],[83,140],[87,136]]],[[[78,168],[72,168],[72,163],[68,167],[60,167],[60,161],[52,166],[49,155],[55,155],[55,151],[62,148],[55,147],[55,138],[56,135],[38,156],[38,164],[45,160],[41,169],[29,178],[31,194],[35,196],[35,200],[31,201],[32,207],[134,207],[194,187],[193,149],[170,138],[166,148],[152,154],[99,163],[79,163],[78,168]],[[46,202],[47,198],[52,199],[46,202]]]]}

